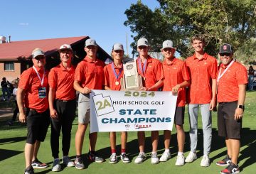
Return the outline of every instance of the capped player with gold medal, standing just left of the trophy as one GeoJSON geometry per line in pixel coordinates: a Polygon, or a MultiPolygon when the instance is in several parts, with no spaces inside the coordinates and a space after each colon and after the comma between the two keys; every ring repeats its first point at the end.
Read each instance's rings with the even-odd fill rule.
{"type": "MultiPolygon", "coordinates": [[[[116,90],[121,89],[121,80],[124,75],[122,60],[124,58],[124,47],[121,43],[115,43],[112,48],[112,57],[114,62],[106,65],[104,67],[105,74],[105,89],[106,90],[116,90]]],[[[110,163],[117,163],[117,153],[116,153],[116,132],[110,132],[110,148],[111,156],[110,163]]],[[[121,132],[121,155],[120,158],[124,163],[129,163],[129,157],[126,153],[126,143],[127,143],[127,132],[121,132]]]]}

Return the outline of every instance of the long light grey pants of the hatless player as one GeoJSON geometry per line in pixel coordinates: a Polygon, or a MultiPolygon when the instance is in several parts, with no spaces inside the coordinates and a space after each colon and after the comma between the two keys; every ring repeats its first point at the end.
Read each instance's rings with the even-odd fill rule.
{"type": "Polygon", "coordinates": [[[203,154],[210,153],[211,139],[212,139],[212,116],[209,110],[210,104],[188,104],[188,115],[191,139],[191,152],[196,153],[196,146],[198,142],[198,109],[201,109],[202,123],[203,123],[203,154]]]}

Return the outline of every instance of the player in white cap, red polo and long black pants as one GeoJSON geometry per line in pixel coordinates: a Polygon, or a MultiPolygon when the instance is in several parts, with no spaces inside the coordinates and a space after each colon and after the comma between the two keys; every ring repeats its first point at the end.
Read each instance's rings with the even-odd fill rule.
{"type": "Polygon", "coordinates": [[[73,87],[75,67],[71,65],[73,50],[70,45],[60,46],[60,65],[53,67],[49,73],[49,108],[50,108],[50,146],[52,150],[53,172],[61,170],[59,160],[59,137],[62,130],[63,164],[68,167],[75,166],[70,161],[68,152],[70,149],[71,129],[75,119],[76,96],[73,87]]]}

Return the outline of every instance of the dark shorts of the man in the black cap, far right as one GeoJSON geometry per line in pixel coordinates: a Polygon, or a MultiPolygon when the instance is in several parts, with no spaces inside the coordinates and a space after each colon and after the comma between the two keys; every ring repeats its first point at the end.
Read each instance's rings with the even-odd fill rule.
{"type": "Polygon", "coordinates": [[[218,104],[218,135],[225,138],[240,139],[242,119],[235,120],[238,101],[218,104]]]}

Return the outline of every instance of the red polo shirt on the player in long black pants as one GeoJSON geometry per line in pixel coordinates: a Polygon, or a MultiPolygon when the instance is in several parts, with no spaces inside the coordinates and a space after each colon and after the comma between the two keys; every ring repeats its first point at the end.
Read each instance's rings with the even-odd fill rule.
{"type": "Polygon", "coordinates": [[[55,99],[75,99],[74,76],[75,67],[65,68],[62,62],[50,70],[48,82],[55,89],[55,99]]]}

